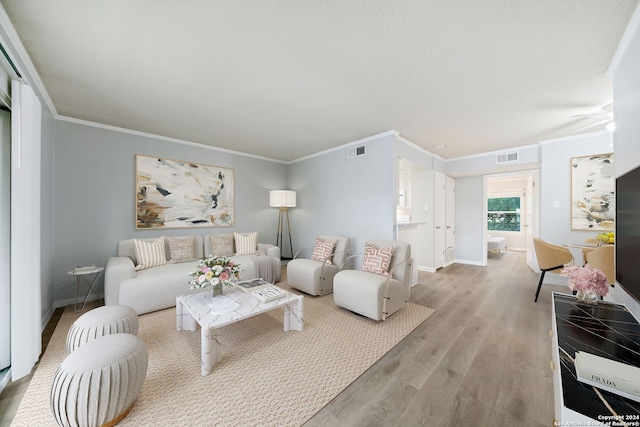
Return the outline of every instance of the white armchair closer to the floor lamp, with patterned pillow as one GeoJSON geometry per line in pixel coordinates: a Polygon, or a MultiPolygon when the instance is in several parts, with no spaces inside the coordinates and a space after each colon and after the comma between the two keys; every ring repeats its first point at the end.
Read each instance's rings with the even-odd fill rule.
{"type": "MultiPolygon", "coordinates": [[[[318,236],[318,239],[323,242],[334,241],[333,250],[325,256],[316,257],[318,259],[311,259],[299,257],[305,252],[305,249],[301,249],[287,263],[289,286],[309,295],[325,295],[333,291],[333,278],[342,269],[351,250],[351,240],[348,237],[323,235],[318,236]]],[[[311,256],[311,253],[307,256],[311,256]]]]}

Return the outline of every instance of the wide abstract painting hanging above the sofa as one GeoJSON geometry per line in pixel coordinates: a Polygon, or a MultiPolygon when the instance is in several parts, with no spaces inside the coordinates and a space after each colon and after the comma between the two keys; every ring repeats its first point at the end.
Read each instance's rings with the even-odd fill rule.
{"type": "Polygon", "coordinates": [[[233,226],[233,169],[136,155],[136,228],[233,226]]]}

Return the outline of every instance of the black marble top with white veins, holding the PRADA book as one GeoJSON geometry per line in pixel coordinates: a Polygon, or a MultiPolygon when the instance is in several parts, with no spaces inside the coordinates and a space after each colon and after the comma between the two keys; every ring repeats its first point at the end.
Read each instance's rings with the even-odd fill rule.
{"type": "Polygon", "coordinates": [[[573,363],[576,352],[584,351],[640,366],[638,320],[623,305],[600,301],[593,306],[573,295],[554,293],[554,305],[564,405],[597,421],[606,420],[603,416],[613,415],[613,410],[630,425],[638,425],[640,403],[598,389],[601,398],[594,387],[577,380],[573,363]]]}

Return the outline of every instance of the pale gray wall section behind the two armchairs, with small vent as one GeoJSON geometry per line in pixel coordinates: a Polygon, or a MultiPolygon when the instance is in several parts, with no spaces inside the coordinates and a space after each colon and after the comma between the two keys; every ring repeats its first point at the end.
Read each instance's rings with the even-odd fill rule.
{"type": "MultiPolygon", "coordinates": [[[[297,192],[289,211],[294,252],[313,247],[319,234],[350,237],[353,254],[369,239],[393,239],[395,141],[387,134],[364,142],[364,156],[347,159],[345,146],[289,164],[289,189],[297,192]]],[[[362,143],[349,146],[356,145],[362,143]]]]}

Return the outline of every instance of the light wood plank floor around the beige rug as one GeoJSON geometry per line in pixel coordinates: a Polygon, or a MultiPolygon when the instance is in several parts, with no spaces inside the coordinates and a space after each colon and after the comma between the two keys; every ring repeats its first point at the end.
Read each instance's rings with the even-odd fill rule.
{"type": "MultiPolygon", "coordinates": [[[[436,312],[305,427],[551,425],[551,292],[567,288],[545,284],[534,303],[538,275],[517,252],[419,279],[412,302],[436,312]]],[[[0,394],[0,427],[11,424],[30,378],[0,394]]]]}

